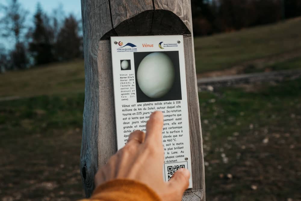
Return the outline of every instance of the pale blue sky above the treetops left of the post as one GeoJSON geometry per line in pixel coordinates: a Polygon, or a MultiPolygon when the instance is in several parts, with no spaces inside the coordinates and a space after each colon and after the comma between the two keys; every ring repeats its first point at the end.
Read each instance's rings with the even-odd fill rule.
{"type": "MultiPolygon", "coordinates": [[[[0,0],[0,5],[7,5],[8,2],[11,0],[0,0]]],[[[41,4],[42,9],[48,15],[53,13],[54,9],[60,8],[64,11],[64,15],[67,16],[69,14],[74,14],[76,19],[80,20],[82,17],[81,14],[81,4],[80,0],[18,0],[22,7],[29,11],[29,14],[26,19],[26,24],[29,26],[33,26],[33,15],[36,12],[38,2],[41,4]]],[[[0,13],[0,18],[3,16],[0,13]]],[[[5,39],[0,36],[0,45],[4,46],[5,48],[11,49],[12,41],[11,39],[5,39]]]]}

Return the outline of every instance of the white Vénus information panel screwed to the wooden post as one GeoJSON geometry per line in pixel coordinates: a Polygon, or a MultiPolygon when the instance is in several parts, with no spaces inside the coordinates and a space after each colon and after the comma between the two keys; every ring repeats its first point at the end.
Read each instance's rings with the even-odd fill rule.
{"type": "Polygon", "coordinates": [[[118,149],[159,110],[165,181],[179,168],[191,172],[183,36],[111,37],[111,51],[118,149]]]}

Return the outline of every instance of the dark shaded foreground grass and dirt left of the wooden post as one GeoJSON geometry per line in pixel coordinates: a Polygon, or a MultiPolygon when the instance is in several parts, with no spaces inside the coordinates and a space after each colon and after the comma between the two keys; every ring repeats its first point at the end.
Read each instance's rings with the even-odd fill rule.
{"type": "Polygon", "coordinates": [[[1,200],[84,197],[79,172],[83,108],[83,93],[0,102],[1,200]]]}

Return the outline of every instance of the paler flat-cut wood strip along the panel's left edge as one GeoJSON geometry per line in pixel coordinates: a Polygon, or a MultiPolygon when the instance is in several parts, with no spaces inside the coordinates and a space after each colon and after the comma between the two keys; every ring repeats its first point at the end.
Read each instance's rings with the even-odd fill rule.
{"type": "MultiPolygon", "coordinates": [[[[101,40],[98,49],[98,167],[106,164],[117,151],[116,123],[113,94],[113,68],[109,40],[101,40]]],[[[97,150],[95,150],[97,151],[97,150]]]]}

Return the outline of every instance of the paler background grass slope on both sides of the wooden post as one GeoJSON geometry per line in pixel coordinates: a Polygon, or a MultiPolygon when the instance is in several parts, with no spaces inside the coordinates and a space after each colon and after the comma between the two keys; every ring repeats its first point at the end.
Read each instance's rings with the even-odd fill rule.
{"type": "MultiPolygon", "coordinates": [[[[199,77],[301,68],[301,18],[196,37],[194,46],[199,77]]],[[[81,92],[84,82],[82,60],[53,63],[0,74],[0,97],[81,92]]]]}

